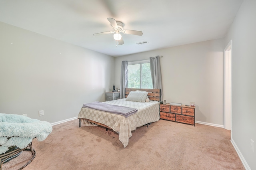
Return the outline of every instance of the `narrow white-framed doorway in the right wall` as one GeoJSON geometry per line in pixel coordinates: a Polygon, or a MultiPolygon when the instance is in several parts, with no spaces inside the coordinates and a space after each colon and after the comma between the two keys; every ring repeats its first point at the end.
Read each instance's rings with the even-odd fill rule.
{"type": "Polygon", "coordinates": [[[232,130],[232,81],[231,79],[232,79],[232,40],[230,40],[230,42],[224,49],[224,128],[227,130],[232,130]]]}

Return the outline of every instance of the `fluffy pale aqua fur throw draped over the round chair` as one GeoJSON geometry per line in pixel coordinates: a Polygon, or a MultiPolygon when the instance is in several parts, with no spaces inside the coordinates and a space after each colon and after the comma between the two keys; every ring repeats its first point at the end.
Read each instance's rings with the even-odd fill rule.
{"type": "Polygon", "coordinates": [[[33,138],[43,141],[51,132],[52,125],[49,122],[0,113],[0,154],[8,151],[9,146],[26,148],[33,138]],[[8,140],[8,137],[12,138],[8,140]]]}

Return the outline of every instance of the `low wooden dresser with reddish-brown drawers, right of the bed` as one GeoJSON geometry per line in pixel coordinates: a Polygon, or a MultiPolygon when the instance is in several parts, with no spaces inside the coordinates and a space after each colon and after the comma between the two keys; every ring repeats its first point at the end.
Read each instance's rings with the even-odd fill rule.
{"type": "Polygon", "coordinates": [[[160,119],[195,126],[195,107],[160,104],[160,119]]]}

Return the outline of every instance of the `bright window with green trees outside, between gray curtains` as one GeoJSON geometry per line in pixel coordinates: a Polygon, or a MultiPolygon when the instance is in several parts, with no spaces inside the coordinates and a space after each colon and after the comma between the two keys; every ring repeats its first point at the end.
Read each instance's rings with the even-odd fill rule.
{"type": "Polygon", "coordinates": [[[128,88],[153,89],[149,60],[128,63],[128,88]]]}

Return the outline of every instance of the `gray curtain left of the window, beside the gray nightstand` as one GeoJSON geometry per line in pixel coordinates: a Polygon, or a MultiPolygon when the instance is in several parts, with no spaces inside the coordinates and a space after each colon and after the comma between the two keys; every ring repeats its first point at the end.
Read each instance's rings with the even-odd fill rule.
{"type": "Polygon", "coordinates": [[[125,88],[128,87],[128,61],[122,61],[120,78],[120,99],[125,98],[125,88]]]}

